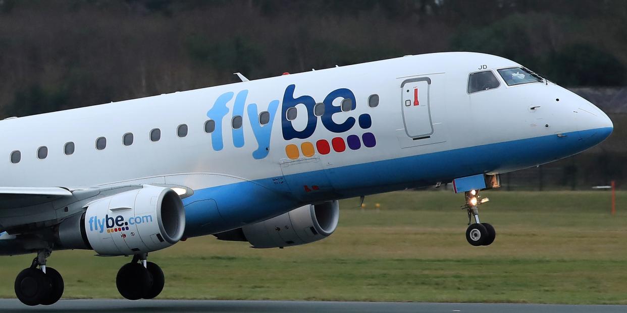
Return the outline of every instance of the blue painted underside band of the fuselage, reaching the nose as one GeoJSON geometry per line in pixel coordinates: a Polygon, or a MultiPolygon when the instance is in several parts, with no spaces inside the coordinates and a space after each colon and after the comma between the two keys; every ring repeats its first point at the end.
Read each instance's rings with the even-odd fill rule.
{"type": "Polygon", "coordinates": [[[359,195],[402,190],[450,182],[453,178],[486,172],[510,172],[552,162],[574,155],[603,141],[613,128],[574,131],[557,135],[491,143],[391,160],[361,163],[346,167],[298,173],[285,177],[290,180],[316,181],[325,175],[334,188],[329,193],[305,192],[302,186],[290,192],[277,188],[277,177],[233,183],[196,190],[184,199],[186,205],[186,237],[241,227],[245,223],[280,215],[307,203],[350,198],[359,195]],[[209,223],[203,208],[192,202],[213,199],[218,205],[221,223],[209,223]]]}

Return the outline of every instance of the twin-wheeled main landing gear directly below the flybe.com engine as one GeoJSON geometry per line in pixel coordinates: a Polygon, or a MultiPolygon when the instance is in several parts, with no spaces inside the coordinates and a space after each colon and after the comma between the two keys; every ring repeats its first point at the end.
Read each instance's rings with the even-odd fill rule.
{"type": "Polygon", "coordinates": [[[119,270],[117,289],[129,300],[152,299],[161,294],[165,277],[159,265],[147,261],[148,254],[137,254],[119,270]]]}

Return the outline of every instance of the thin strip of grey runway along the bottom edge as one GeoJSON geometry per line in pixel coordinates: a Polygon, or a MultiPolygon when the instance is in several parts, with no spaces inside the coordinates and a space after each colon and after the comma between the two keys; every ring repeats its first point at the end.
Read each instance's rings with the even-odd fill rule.
{"type": "Polygon", "coordinates": [[[15,299],[0,299],[0,312],[623,313],[627,305],[63,299],[49,307],[28,307],[15,299]]]}

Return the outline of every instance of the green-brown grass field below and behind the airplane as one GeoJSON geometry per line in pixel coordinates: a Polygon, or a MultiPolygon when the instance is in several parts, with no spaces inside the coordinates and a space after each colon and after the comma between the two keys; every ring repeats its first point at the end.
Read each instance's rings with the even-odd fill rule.
{"type": "MultiPolygon", "coordinates": [[[[463,195],[395,192],[342,201],[328,239],[250,249],[213,236],[150,254],[166,273],[160,298],[627,304],[627,192],[483,192],[489,247],[466,242],[463,195]],[[381,203],[381,210],[374,208],[381,203]]],[[[64,297],[119,298],[123,257],[55,252],[64,297]]],[[[0,257],[0,297],[33,255],[0,257]]]]}

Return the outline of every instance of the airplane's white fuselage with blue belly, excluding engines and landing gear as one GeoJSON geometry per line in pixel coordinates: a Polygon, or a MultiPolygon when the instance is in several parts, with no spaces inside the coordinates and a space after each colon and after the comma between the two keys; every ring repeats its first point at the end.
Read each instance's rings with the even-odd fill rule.
{"type": "MultiPolygon", "coordinates": [[[[181,185],[198,191],[186,205],[208,198],[218,202],[224,227],[197,228],[194,234],[201,235],[272,217],[302,203],[531,167],[585,150],[609,135],[609,118],[579,96],[551,82],[508,86],[495,71],[518,66],[487,54],[424,54],[4,120],[0,185],[181,185]],[[468,75],[486,69],[495,71],[500,86],[469,94],[468,75]],[[404,97],[411,98],[414,90],[401,86],[412,84],[428,115],[412,117],[413,111],[404,111],[413,110],[414,103],[404,106],[404,97]],[[293,95],[288,92],[292,85],[293,95]],[[344,90],[339,95],[346,95],[345,90],[354,95],[352,110],[315,116],[313,107],[305,105],[311,100],[303,98],[305,103],[295,105],[295,120],[286,118],[287,103],[301,101],[295,98],[309,96],[312,103],[320,103],[337,90],[344,90]],[[371,95],[379,97],[374,108],[369,106],[371,95]],[[258,116],[262,111],[270,113],[263,126],[258,116]],[[365,117],[360,123],[360,116],[366,115],[371,126],[365,117]],[[243,121],[236,130],[234,116],[243,121]],[[348,130],[334,126],[351,125],[352,119],[348,130]],[[212,133],[205,131],[208,120],[215,123],[212,133]],[[182,138],[177,135],[179,125],[188,128],[182,138]],[[150,132],[155,128],[161,138],[153,142],[150,132]],[[423,130],[425,136],[411,137],[423,130]],[[123,144],[125,133],[134,135],[130,146],[123,144]],[[374,136],[374,145],[365,133],[374,136]],[[351,135],[353,141],[347,141],[351,135]],[[96,148],[100,137],[107,139],[103,150],[96,148]],[[334,151],[334,138],[352,146],[334,151]],[[328,153],[324,143],[317,145],[319,140],[329,143],[328,153]],[[75,144],[71,155],[64,153],[68,142],[75,144]],[[43,160],[38,158],[40,146],[48,148],[43,160]],[[20,151],[19,163],[11,163],[13,151],[20,151]],[[252,194],[246,188],[241,194],[237,189],[224,194],[226,186],[247,182],[268,190],[268,195],[247,198],[252,194]],[[218,187],[224,188],[212,189],[218,187]],[[272,195],[282,199],[280,205],[268,203],[272,195]],[[220,203],[219,197],[245,200],[220,203]],[[247,212],[250,216],[241,217],[247,212]],[[227,217],[235,215],[240,218],[227,217]]],[[[334,106],[343,99],[335,99],[334,106]]]]}

